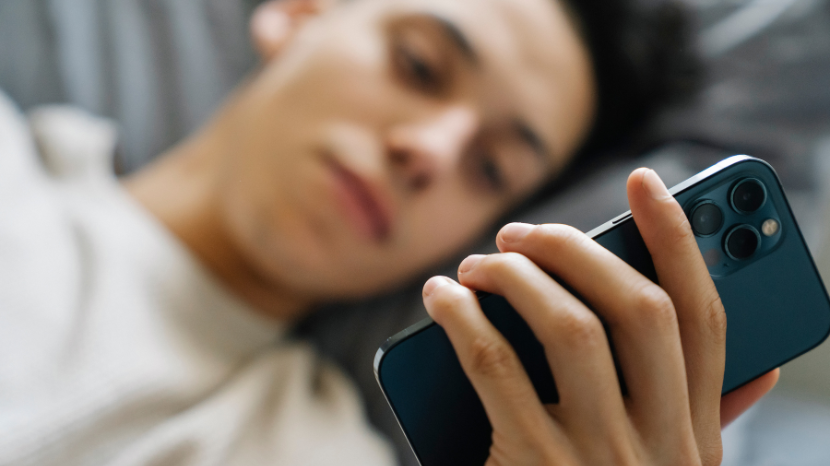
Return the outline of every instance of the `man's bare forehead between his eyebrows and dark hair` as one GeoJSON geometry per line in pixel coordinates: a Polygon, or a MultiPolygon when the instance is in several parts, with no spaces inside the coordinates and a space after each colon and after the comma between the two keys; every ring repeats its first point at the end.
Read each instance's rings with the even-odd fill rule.
{"type": "Polygon", "coordinates": [[[527,122],[566,162],[593,117],[587,48],[560,0],[377,0],[387,15],[434,14],[470,42],[478,91],[499,113],[527,122]]]}

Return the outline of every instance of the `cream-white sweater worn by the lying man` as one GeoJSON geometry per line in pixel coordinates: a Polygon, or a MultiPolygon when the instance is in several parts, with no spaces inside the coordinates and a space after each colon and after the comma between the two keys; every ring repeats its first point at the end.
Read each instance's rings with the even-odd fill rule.
{"type": "Polygon", "coordinates": [[[107,174],[108,123],[33,121],[0,93],[0,465],[394,464],[345,376],[107,174]]]}

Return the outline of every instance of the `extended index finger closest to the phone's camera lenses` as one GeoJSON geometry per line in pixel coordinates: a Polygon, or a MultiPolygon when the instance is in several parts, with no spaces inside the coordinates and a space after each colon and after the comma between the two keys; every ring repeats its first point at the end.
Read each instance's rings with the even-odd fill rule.
{"type": "Polygon", "coordinates": [[[677,309],[698,442],[702,450],[719,450],[726,346],[723,305],[686,214],[660,177],[653,170],[635,170],[628,178],[628,199],[660,286],[677,309]]]}

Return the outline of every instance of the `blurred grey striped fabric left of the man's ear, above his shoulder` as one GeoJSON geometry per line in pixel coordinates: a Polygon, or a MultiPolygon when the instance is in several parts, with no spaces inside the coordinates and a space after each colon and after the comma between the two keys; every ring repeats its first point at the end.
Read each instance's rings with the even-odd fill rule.
{"type": "Polygon", "coordinates": [[[122,126],[133,170],[196,128],[255,64],[252,0],[0,1],[0,88],[122,126]]]}

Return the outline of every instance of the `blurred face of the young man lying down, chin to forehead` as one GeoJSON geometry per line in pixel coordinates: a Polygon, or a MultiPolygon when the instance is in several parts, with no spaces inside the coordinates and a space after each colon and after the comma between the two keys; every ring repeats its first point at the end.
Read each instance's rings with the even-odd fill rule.
{"type": "Polygon", "coordinates": [[[553,0],[338,3],[240,91],[230,235],[266,280],[326,299],[380,291],[560,170],[593,94],[553,0]]]}

